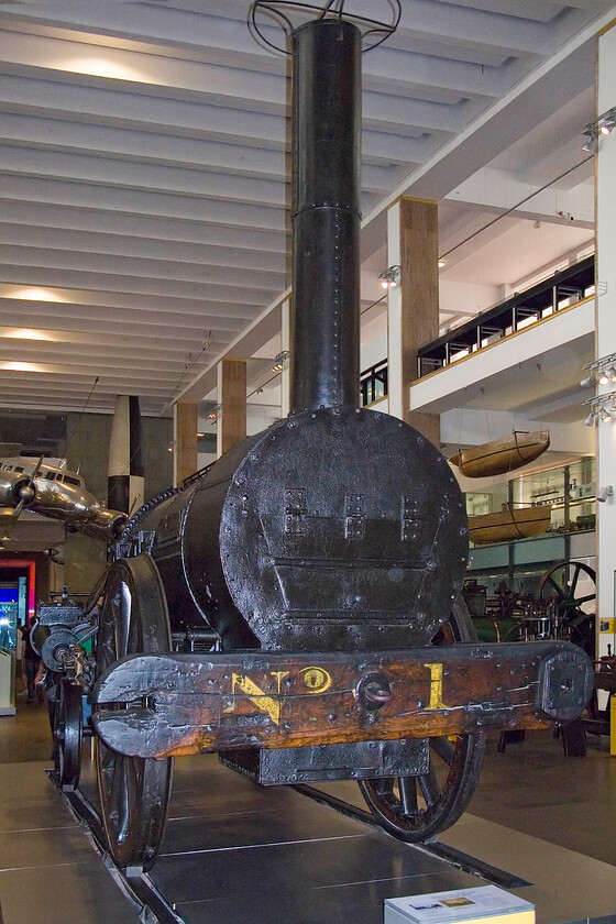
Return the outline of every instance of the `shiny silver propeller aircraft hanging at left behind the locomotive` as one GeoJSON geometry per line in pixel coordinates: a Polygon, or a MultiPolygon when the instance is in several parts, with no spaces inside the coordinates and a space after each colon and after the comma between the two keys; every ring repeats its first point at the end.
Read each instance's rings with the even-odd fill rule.
{"type": "Polygon", "coordinates": [[[63,520],[69,530],[111,542],[118,538],[127,514],[111,510],[86,490],[84,479],[63,464],[28,455],[0,457],[0,507],[12,507],[2,539],[22,510],[63,520]],[[57,463],[57,464],[52,464],[57,463]]]}

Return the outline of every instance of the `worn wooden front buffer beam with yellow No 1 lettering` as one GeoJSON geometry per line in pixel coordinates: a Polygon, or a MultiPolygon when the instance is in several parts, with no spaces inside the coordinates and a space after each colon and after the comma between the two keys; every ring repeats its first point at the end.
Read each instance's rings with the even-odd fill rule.
{"type": "Polygon", "coordinates": [[[138,654],[99,678],[92,721],[106,745],[131,757],[260,749],[263,783],[328,779],[328,745],[370,743],[350,763],[350,776],[362,779],[399,772],[397,760],[421,772],[428,738],[568,723],[592,684],[590,658],[558,641],[138,654]],[[404,757],[394,754],[398,744],[404,757]],[[304,761],[267,755],[289,748],[304,761]]]}

